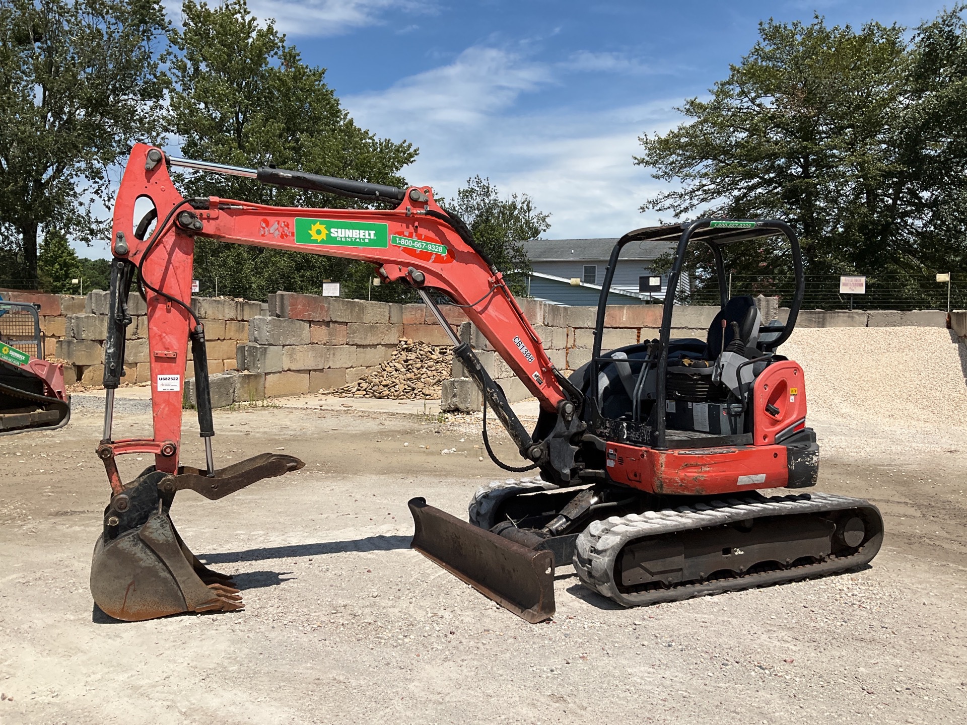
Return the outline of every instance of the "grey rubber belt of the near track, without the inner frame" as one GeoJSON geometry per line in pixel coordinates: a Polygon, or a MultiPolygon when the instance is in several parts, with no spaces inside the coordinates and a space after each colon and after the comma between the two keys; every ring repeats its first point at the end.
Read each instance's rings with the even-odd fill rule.
{"type": "Polygon", "coordinates": [[[636,538],[722,526],[760,516],[821,513],[843,508],[871,509],[879,517],[879,509],[868,501],[828,493],[774,496],[768,499],[756,494],[713,501],[710,504],[700,503],[661,511],[632,513],[627,516],[611,516],[601,521],[593,521],[577,536],[573,558],[574,570],[584,586],[627,607],[679,601],[707,594],[738,592],[824,576],[871,561],[883,541],[882,519],[879,519],[880,531],[871,536],[857,553],[845,557],[833,557],[814,565],[793,566],[777,571],[737,575],[731,579],[717,579],[638,593],[619,591],[614,578],[618,555],[636,538]]]}

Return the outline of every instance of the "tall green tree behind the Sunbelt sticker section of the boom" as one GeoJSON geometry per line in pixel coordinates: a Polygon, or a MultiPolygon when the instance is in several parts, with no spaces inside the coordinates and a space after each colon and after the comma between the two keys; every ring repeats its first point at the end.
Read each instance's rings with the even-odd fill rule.
{"type": "MultiPolygon", "coordinates": [[[[240,166],[275,164],[377,184],[405,186],[399,170],[416,158],[409,143],[360,129],[325,83],[325,70],[303,63],[272,21],[260,27],[245,0],[218,7],[187,0],[183,29],[171,32],[180,52],[172,64],[174,132],[190,158],[240,166]]],[[[217,195],[281,206],[366,206],[329,194],[258,184],[238,177],[198,174],[186,195],[217,195]]],[[[365,297],[366,263],[199,240],[195,275],[203,291],[264,299],[277,290],[318,293],[339,280],[343,296],[365,297]]],[[[381,287],[381,298],[398,285],[381,287]]]]}

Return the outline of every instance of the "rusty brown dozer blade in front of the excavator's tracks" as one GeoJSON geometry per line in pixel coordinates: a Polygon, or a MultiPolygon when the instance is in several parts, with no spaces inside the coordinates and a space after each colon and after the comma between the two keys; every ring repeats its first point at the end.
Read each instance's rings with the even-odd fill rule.
{"type": "Polygon", "coordinates": [[[554,615],[554,556],[491,534],[426,505],[409,502],[411,546],[529,623],[554,615]]]}

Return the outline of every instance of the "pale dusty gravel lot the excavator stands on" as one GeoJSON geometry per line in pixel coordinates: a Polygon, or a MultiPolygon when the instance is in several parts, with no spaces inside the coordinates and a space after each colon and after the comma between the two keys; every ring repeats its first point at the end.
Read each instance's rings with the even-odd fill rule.
{"type": "MultiPolygon", "coordinates": [[[[821,488],[886,515],[871,567],[625,610],[568,566],[555,620],[532,625],[408,548],[407,499],[465,516],[475,488],[503,478],[478,461],[469,422],[217,412],[220,462],[278,449],[307,461],[220,502],[175,503],[191,548],[235,575],[248,608],[112,623],[87,588],[107,496],[101,418],[78,409],[55,434],[0,439],[0,722],[967,721],[964,429],[910,453],[925,430],[870,444],[863,426],[813,422],[821,488]]],[[[144,413],[117,416],[117,437],[148,430],[144,413]]],[[[186,417],[185,459],[200,463],[193,431],[186,417]]]]}

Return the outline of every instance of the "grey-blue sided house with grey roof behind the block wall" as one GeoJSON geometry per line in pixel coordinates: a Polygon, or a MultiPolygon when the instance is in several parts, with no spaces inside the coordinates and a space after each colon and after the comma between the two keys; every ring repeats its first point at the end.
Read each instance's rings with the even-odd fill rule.
{"type": "MultiPolygon", "coordinates": [[[[614,238],[535,239],[525,242],[524,249],[536,273],[531,278],[531,296],[560,304],[574,304],[571,300],[576,296],[590,298],[595,288],[601,290],[604,270],[617,241],[614,238]],[[568,290],[566,287],[569,284],[563,282],[577,289],[568,290]],[[583,290],[579,289],[582,287],[583,290]]],[[[611,282],[612,294],[621,294],[620,304],[633,304],[634,300],[647,302],[664,299],[668,275],[655,274],[653,266],[659,256],[672,251],[674,245],[667,242],[631,242],[621,250],[611,282]]]]}

